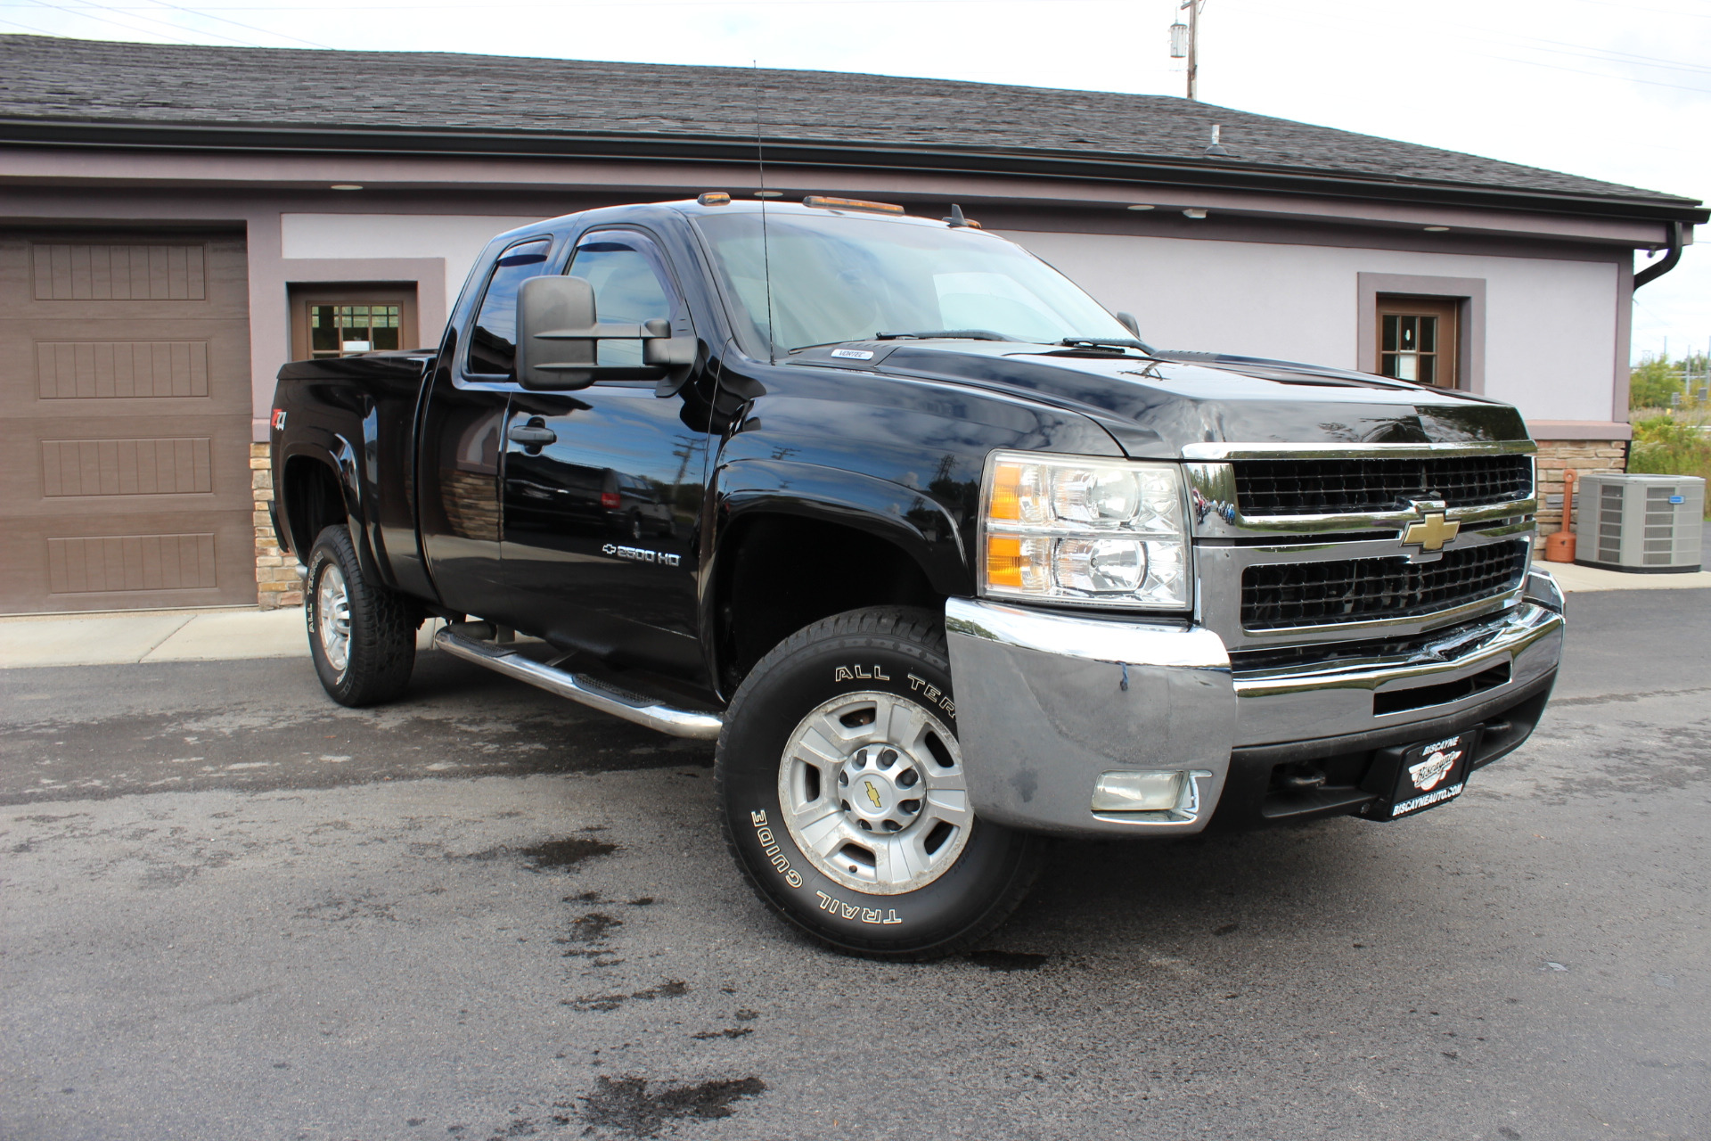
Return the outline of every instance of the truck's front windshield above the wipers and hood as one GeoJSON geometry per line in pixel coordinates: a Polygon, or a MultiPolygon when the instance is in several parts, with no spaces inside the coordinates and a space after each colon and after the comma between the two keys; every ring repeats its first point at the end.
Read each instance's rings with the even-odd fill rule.
{"type": "Polygon", "coordinates": [[[696,219],[713,250],[739,337],[767,354],[879,334],[987,332],[1057,344],[1133,334],[1045,262],[979,229],[941,229],[847,214],[696,219]],[[767,267],[772,269],[768,335],[767,267]]]}

